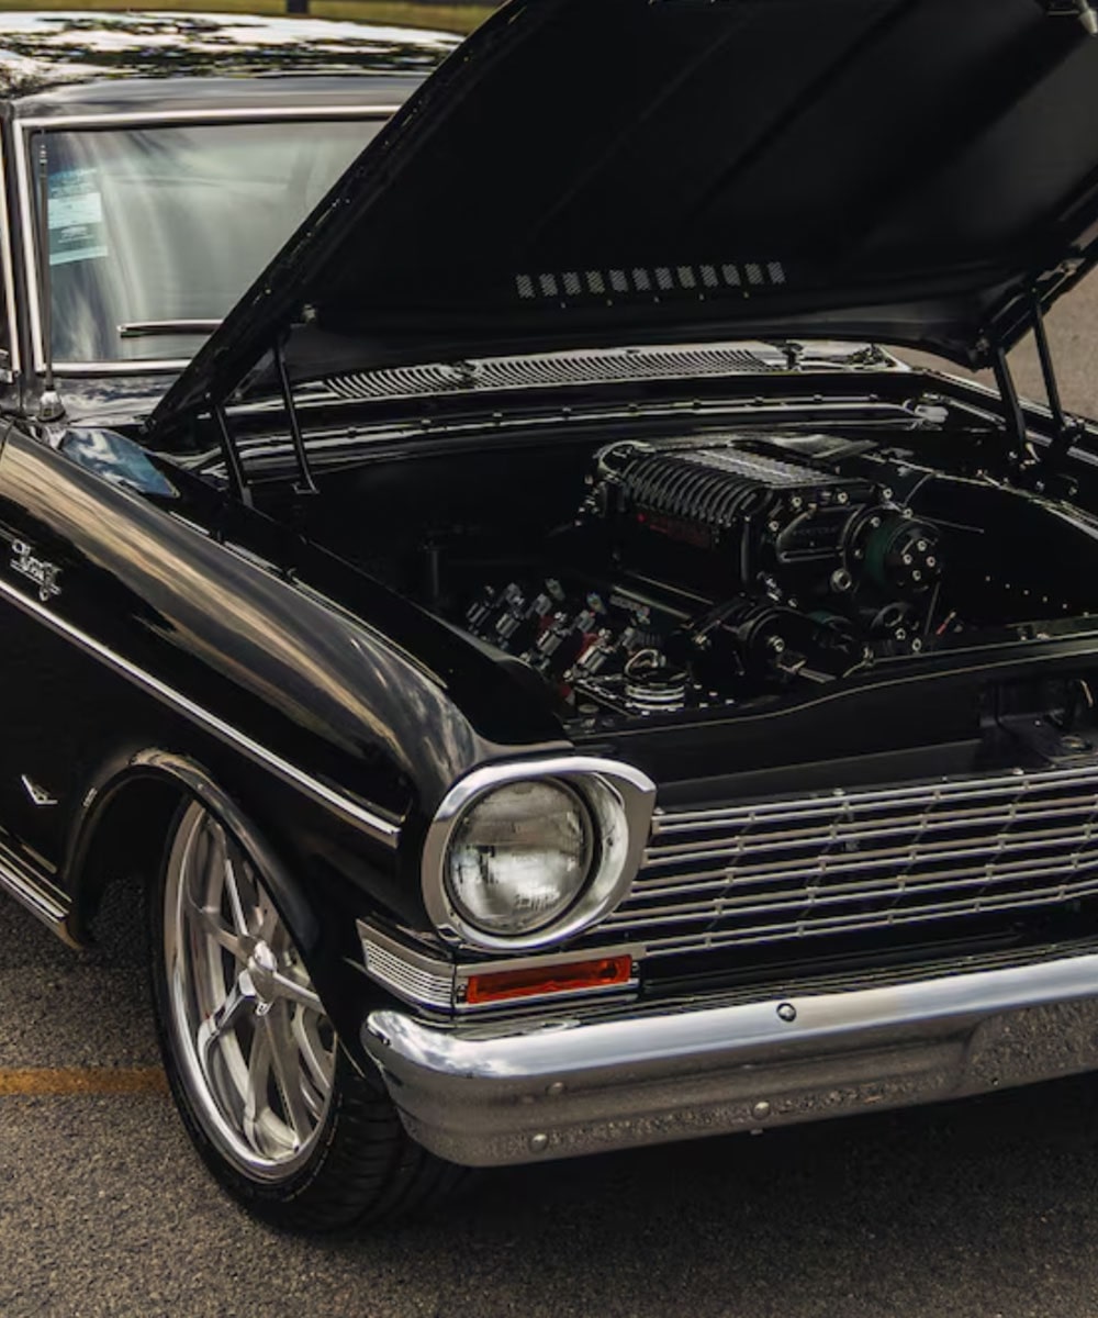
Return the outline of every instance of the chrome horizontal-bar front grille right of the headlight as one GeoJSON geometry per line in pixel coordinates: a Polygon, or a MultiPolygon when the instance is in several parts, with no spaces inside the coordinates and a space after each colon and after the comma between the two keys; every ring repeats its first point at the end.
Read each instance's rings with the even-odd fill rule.
{"type": "Polygon", "coordinates": [[[659,813],[600,932],[649,956],[1098,896],[1098,766],[659,813]]]}

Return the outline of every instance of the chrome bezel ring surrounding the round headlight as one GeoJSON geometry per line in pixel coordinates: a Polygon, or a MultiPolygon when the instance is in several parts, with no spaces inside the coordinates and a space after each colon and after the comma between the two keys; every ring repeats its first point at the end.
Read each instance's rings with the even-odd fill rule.
{"type": "Polygon", "coordinates": [[[633,884],[649,840],[655,786],[639,770],[581,755],[489,764],[463,778],[435,812],[423,846],[422,884],[427,915],[447,942],[484,952],[531,952],[555,946],[591,928],[633,884]],[[488,793],[521,782],[558,780],[573,791],[594,829],[593,859],[571,905],[551,923],[519,934],[488,933],[456,908],[447,883],[455,830],[488,793]]]}

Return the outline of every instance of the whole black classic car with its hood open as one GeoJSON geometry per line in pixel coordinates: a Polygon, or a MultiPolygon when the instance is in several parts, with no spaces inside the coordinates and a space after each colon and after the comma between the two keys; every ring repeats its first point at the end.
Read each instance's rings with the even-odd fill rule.
{"type": "Polygon", "coordinates": [[[1095,32],[511,0],[12,91],[0,883],[146,904],[253,1211],[1098,1068],[1095,32]]]}

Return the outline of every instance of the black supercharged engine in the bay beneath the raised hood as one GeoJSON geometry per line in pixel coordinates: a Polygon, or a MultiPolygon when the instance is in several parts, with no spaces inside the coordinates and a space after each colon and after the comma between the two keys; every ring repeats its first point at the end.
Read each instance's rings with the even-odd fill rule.
{"type": "Polygon", "coordinates": [[[440,612],[567,710],[652,716],[1036,634],[1090,612],[1095,546],[1070,505],[869,439],[627,439],[535,561],[453,567],[440,612]]]}

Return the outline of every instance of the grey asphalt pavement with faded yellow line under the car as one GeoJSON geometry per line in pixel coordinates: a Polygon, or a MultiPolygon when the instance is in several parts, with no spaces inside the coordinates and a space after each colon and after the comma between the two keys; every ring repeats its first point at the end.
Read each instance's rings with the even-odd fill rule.
{"type": "MultiPolygon", "coordinates": [[[[1098,285],[1052,327],[1098,415],[1087,326],[1098,285]]],[[[0,1318],[1098,1314],[1098,1078],[486,1173],[332,1246],[220,1194],[156,1064],[141,965],[0,900],[0,1318]]]]}

